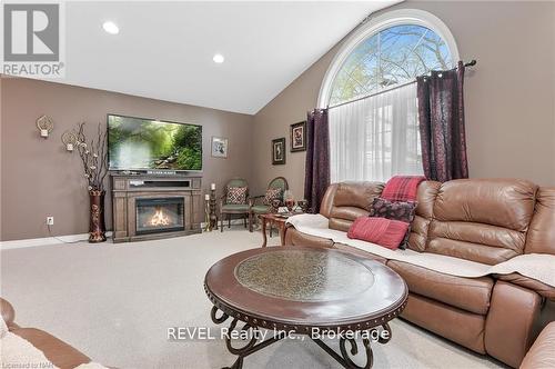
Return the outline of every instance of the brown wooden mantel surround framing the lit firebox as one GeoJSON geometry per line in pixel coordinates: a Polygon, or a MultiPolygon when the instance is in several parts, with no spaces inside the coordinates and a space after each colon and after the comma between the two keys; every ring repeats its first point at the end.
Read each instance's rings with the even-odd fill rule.
{"type": "MultiPolygon", "coordinates": [[[[202,178],[199,176],[160,176],[160,174],[111,174],[113,241],[140,241],[168,237],[200,233],[203,216],[201,193],[202,178]],[[161,228],[159,232],[138,230],[138,210],[140,200],[179,199],[183,217],[180,230],[170,231],[161,228]]],[[[144,202],[144,201],[142,201],[144,202]]]]}

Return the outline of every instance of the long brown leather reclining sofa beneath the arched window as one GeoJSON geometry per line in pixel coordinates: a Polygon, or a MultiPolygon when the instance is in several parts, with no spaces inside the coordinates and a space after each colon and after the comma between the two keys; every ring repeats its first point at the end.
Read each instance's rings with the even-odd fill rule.
{"type": "MultiPolygon", "coordinates": [[[[330,228],[347,231],[369,215],[379,182],[335,183],[321,205],[330,228]]],[[[524,180],[424,181],[408,246],[486,265],[522,253],[555,255],[555,188],[524,180]]],[[[555,288],[519,275],[461,278],[386,260],[290,227],[286,245],[346,249],[386,263],[410,290],[402,317],[480,353],[518,367],[533,341],[533,323],[555,288]]]]}

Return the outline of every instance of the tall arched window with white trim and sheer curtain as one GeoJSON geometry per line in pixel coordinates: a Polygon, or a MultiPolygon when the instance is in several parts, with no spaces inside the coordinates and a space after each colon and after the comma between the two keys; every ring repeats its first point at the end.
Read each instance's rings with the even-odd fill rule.
{"type": "Polygon", "coordinates": [[[332,181],[422,173],[414,81],[457,60],[453,36],[428,12],[391,11],[360,27],[332,61],[319,97],[330,108],[332,181]]]}

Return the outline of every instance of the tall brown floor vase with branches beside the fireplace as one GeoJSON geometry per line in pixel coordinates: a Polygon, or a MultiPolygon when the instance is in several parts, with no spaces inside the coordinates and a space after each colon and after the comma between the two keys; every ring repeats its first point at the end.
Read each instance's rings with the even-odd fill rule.
{"type": "Polygon", "coordinates": [[[108,174],[107,131],[98,124],[95,139],[87,140],[85,123],[77,130],[77,152],[81,158],[90,199],[89,242],[104,242],[104,179],[108,174]]]}

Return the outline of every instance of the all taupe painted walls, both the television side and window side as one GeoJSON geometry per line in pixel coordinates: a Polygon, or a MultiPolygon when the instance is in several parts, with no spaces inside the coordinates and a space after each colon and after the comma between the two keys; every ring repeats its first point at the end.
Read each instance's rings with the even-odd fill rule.
{"type": "MultiPolygon", "coordinates": [[[[405,2],[440,17],[454,34],[461,57],[477,59],[466,78],[466,127],[471,177],[519,177],[555,186],[555,3],[405,2]]],[[[387,10],[384,10],[387,11],[387,10]]],[[[87,232],[88,198],[77,154],[60,134],[79,121],[105,122],[108,112],[203,126],[204,188],[221,188],[232,176],[263,193],[278,176],[303,196],[304,152],[290,152],[289,126],[316,106],[333,48],[254,117],[40,82],[0,79],[0,239],[87,232]],[[42,140],[36,119],[56,121],[42,140]],[[211,136],[230,138],[230,158],[210,157],[211,136]],[[285,166],[271,164],[270,141],[285,137],[285,166]]],[[[292,56],[294,57],[294,56],[292,56]]],[[[107,203],[110,209],[110,202],[107,203]]],[[[108,217],[110,218],[110,216],[108,217]]],[[[110,225],[110,219],[108,219],[110,225]]]]}

